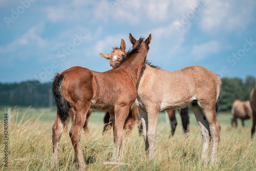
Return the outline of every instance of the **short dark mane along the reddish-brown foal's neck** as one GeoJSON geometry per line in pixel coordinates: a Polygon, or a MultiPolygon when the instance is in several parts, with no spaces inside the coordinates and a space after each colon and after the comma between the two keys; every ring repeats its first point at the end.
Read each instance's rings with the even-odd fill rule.
{"type": "MultiPolygon", "coordinates": [[[[142,41],[144,40],[144,37],[140,37],[138,45],[134,49],[129,49],[124,55],[122,55],[121,58],[118,58],[116,61],[117,63],[113,68],[118,68],[124,61],[129,59],[131,56],[133,56],[135,53],[138,53],[138,50],[140,48],[140,45],[142,41]]],[[[114,48],[113,48],[114,49],[114,48]]],[[[114,49],[115,50],[115,49],[114,49]]]]}

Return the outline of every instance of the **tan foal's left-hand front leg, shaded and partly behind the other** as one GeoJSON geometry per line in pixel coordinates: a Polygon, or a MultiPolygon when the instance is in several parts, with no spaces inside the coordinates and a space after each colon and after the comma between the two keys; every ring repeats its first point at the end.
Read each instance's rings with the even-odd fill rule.
{"type": "Polygon", "coordinates": [[[139,108],[139,114],[141,118],[141,124],[142,124],[142,134],[145,142],[145,152],[146,155],[148,154],[148,140],[147,140],[147,126],[148,126],[148,120],[147,120],[147,112],[143,111],[139,108]]]}

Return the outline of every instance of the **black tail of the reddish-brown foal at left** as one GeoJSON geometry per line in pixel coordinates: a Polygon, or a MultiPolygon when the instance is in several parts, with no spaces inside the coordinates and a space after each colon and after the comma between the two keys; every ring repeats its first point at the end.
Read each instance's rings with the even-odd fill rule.
{"type": "Polygon", "coordinates": [[[70,105],[62,95],[61,86],[64,79],[64,75],[56,73],[52,82],[52,93],[55,98],[57,106],[57,115],[61,122],[64,123],[69,117],[70,105]]]}

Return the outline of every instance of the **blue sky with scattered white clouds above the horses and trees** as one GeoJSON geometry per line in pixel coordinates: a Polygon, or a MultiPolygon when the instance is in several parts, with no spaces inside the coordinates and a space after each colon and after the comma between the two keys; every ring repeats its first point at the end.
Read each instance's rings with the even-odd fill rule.
{"type": "Polygon", "coordinates": [[[147,59],[256,77],[256,1],[0,0],[0,82],[51,81],[73,66],[110,70],[99,53],[152,34],[147,59]]]}

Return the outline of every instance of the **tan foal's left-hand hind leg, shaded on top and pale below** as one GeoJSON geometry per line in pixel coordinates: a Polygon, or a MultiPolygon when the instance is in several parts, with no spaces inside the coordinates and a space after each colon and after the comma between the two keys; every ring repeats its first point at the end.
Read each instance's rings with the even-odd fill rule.
{"type": "Polygon", "coordinates": [[[209,154],[209,143],[210,143],[210,128],[208,122],[201,110],[201,108],[197,105],[193,106],[190,104],[190,108],[194,112],[197,122],[201,129],[201,134],[203,137],[203,149],[201,159],[206,163],[208,154],[209,154]]]}

